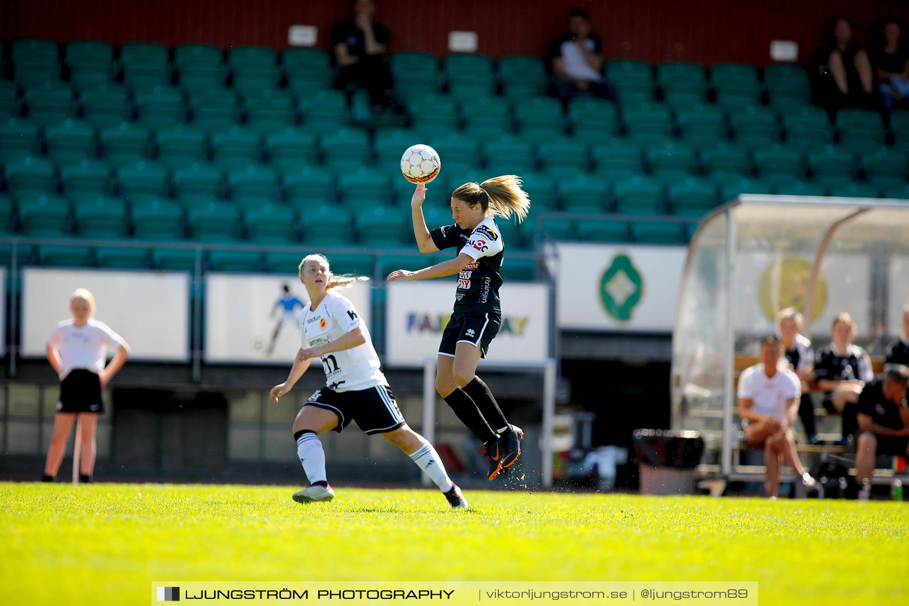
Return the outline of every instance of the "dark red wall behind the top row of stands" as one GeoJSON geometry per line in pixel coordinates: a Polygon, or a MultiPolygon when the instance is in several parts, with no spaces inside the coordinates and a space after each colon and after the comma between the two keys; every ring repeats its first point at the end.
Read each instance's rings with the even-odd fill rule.
{"type": "MultiPolygon", "coordinates": [[[[860,42],[883,16],[909,21],[901,0],[867,0],[861,11],[850,0],[380,0],[378,20],[392,29],[397,50],[445,55],[448,32],[458,29],[478,33],[481,53],[541,55],[574,6],[592,15],[607,56],[654,63],[764,65],[772,39],[798,42],[804,61],[836,13],[854,18],[860,42]]],[[[347,11],[345,0],[9,0],[0,3],[0,36],[284,48],[287,27],[297,24],[317,25],[327,46],[331,25],[347,11]]]]}

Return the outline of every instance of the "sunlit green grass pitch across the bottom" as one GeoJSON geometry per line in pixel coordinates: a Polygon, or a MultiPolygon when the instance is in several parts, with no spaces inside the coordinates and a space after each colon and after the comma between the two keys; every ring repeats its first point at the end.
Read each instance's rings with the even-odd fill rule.
{"type": "Polygon", "coordinates": [[[150,582],[758,581],[761,604],[905,604],[909,503],[335,487],[0,483],[8,604],[150,582]]]}

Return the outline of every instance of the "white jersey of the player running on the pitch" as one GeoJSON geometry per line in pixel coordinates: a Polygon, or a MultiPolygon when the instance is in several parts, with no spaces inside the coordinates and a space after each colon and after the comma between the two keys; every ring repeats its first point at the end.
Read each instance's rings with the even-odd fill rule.
{"type": "Polygon", "coordinates": [[[304,349],[331,343],[357,326],[366,335],[366,343],[322,356],[327,387],[335,392],[350,392],[388,384],[379,368],[381,363],[373,339],[350,299],[328,291],[315,310],[310,308],[311,305],[306,305],[299,316],[304,349]]]}

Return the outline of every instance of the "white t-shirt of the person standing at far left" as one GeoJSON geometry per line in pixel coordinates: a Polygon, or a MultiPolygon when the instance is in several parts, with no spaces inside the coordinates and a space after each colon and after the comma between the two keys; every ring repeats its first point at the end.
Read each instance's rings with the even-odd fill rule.
{"type": "Polygon", "coordinates": [[[82,326],[76,326],[73,319],[57,324],[47,344],[60,353],[60,380],[70,371],[82,368],[92,373],[101,373],[107,362],[107,350],[116,351],[126,342],[107,324],[89,318],[82,326]]]}

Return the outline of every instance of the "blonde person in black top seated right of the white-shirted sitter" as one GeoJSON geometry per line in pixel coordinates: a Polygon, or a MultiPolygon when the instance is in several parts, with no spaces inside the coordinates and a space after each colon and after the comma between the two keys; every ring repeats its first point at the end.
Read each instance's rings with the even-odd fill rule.
{"type": "Polygon", "coordinates": [[[852,343],[855,323],[851,315],[836,316],[832,336],[833,342],[814,357],[814,379],[817,388],[824,392],[827,412],[843,415],[843,438],[837,443],[845,446],[858,428],[855,420],[858,395],[864,384],[874,379],[874,372],[868,353],[852,343]]]}

